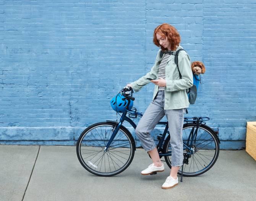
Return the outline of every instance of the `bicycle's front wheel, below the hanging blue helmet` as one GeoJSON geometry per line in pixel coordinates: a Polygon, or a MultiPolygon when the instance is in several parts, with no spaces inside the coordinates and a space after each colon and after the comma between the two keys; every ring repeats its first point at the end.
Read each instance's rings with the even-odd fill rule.
{"type": "Polygon", "coordinates": [[[121,126],[104,152],[115,124],[100,122],[89,126],[80,135],[76,153],[81,165],[92,174],[113,176],[124,171],[133,160],[135,143],[130,132],[121,126]]]}

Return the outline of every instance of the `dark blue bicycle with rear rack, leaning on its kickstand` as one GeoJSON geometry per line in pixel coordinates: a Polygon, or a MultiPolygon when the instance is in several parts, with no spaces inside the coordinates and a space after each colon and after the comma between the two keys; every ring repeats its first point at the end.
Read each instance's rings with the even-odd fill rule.
{"type": "MultiPolygon", "coordinates": [[[[123,100],[128,104],[119,122],[109,121],[93,124],[86,128],[80,135],[76,153],[81,165],[89,172],[99,176],[113,176],[123,172],[131,164],[136,150],[135,141],[130,131],[122,123],[128,121],[136,129],[136,124],[130,118],[142,117],[136,108],[129,109],[133,89],[124,88],[123,100]],[[131,90],[131,94],[127,91],[131,90]],[[130,96],[131,95],[131,96],[130,96]],[[129,117],[127,117],[127,113],[129,117]]],[[[118,93],[119,94],[119,93],[118,93]]],[[[197,176],[212,168],[219,156],[219,136],[204,121],[209,117],[185,117],[183,124],[183,165],[178,174],[182,176],[197,176]],[[204,124],[203,124],[204,122],[204,124]]],[[[160,158],[164,157],[167,165],[172,168],[172,147],[168,121],[159,121],[165,125],[164,133],[157,136],[159,140],[157,150],[160,158]],[[166,138],[165,138],[166,137],[166,138]]],[[[149,156],[150,157],[150,156],[149,156]]],[[[156,172],[151,175],[156,174],[156,172]]]]}

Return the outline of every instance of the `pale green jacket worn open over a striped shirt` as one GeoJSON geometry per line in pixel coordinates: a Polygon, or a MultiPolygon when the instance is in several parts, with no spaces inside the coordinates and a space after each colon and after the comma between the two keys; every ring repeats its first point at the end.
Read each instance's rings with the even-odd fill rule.
{"type": "MultiPolygon", "coordinates": [[[[179,45],[176,50],[178,49],[183,49],[183,48],[179,45]]],[[[151,78],[153,80],[158,79],[158,68],[162,61],[162,58],[164,57],[164,56],[162,58],[160,57],[160,51],[161,49],[159,49],[157,53],[156,62],[155,62],[155,65],[152,67],[151,72],[139,78],[139,80],[131,83],[131,86],[135,92],[138,92],[139,90],[141,90],[141,88],[144,85],[151,83],[151,81],[147,80],[147,78],[151,78]]],[[[175,57],[174,55],[171,55],[165,66],[165,80],[166,80],[166,86],[164,88],[164,96],[165,96],[164,109],[165,110],[187,108],[189,105],[189,102],[188,102],[188,95],[186,94],[186,89],[193,86],[193,73],[190,66],[190,57],[185,51],[181,51],[178,55],[178,65],[179,65],[182,79],[178,72],[177,65],[174,62],[174,57],[175,57]]],[[[156,97],[158,88],[159,86],[155,85],[153,100],[156,97]]]]}

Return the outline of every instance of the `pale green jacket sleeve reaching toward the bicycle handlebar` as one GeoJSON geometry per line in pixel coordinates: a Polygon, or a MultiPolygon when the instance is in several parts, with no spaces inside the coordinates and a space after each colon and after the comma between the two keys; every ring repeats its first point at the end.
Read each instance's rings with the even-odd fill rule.
{"type": "Polygon", "coordinates": [[[156,64],[157,64],[157,61],[159,61],[159,59],[160,59],[159,57],[160,57],[160,51],[158,51],[158,54],[156,56],[155,65],[152,67],[151,71],[148,72],[145,76],[139,78],[139,80],[134,81],[133,83],[131,83],[131,87],[133,88],[133,90],[135,92],[138,92],[139,90],[141,90],[141,88],[143,86],[145,86],[146,84],[151,83],[151,81],[148,80],[147,78],[151,78],[153,80],[156,80],[156,64]]]}

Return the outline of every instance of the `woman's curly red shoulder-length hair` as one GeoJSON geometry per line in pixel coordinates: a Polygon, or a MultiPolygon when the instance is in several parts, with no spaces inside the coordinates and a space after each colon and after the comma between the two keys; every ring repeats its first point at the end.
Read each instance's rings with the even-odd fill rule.
{"type": "Polygon", "coordinates": [[[162,37],[166,38],[168,37],[171,45],[171,50],[175,51],[176,49],[176,45],[178,46],[180,43],[180,34],[177,31],[177,29],[175,29],[175,27],[173,27],[170,24],[161,24],[158,27],[156,27],[156,29],[154,30],[154,38],[153,38],[153,43],[157,46],[157,47],[161,47],[162,51],[167,50],[167,48],[164,48],[162,45],[159,44],[157,38],[156,38],[156,33],[158,33],[159,35],[161,35],[162,37]]]}

